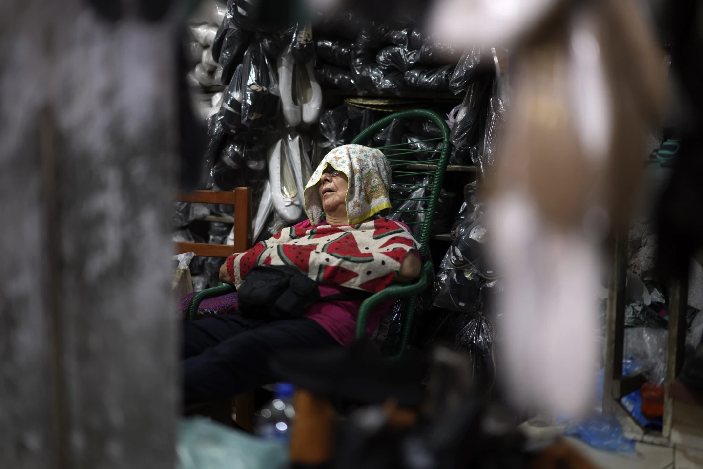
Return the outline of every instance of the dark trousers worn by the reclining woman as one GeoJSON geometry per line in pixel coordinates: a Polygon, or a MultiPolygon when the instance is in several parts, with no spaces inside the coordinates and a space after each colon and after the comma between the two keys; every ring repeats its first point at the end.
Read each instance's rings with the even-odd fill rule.
{"type": "Polygon", "coordinates": [[[341,347],[312,319],[261,321],[240,314],[183,323],[183,401],[193,404],[273,383],[269,356],[287,349],[341,347]]]}

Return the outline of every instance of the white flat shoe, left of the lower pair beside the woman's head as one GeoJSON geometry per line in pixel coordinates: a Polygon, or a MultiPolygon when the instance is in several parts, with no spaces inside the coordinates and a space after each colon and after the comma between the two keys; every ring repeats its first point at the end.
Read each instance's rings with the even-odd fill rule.
{"type": "Polygon", "coordinates": [[[283,140],[277,140],[271,145],[268,160],[273,207],[285,221],[294,223],[301,219],[303,210],[283,140]]]}

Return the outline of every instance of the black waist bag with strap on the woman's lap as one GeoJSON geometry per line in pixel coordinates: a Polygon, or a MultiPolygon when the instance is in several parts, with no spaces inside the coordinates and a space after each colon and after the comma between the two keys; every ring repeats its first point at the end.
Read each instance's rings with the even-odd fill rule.
{"type": "Polygon", "coordinates": [[[262,265],[247,273],[237,290],[237,303],[245,314],[297,319],[319,302],[361,300],[368,296],[359,291],[322,297],[318,283],[297,267],[262,265]]]}

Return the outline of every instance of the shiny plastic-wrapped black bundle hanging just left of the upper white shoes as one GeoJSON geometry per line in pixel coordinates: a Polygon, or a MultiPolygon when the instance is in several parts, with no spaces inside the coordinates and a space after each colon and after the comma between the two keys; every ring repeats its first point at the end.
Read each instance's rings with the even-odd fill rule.
{"type": "Polygon", "coordinates": [[[242,123],[250,129],[276,126],[278,75],[260,42],[250,45],[242,63],[242,123]]]}

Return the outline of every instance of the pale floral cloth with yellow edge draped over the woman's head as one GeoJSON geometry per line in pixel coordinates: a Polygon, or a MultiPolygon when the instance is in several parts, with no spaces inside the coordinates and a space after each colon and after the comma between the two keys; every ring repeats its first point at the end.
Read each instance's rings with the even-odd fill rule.
{"type": "Polygon", "coordinates": [[[305,213],[311,224],[318,224],[322,218],[318,184],[327,165],[343,172],[349,179],[347,220],[350,225],[391,207],[388,195],[391,169],[383,153],[363,145],[342,145],[325,155],[305,186],[305,213]]]}

